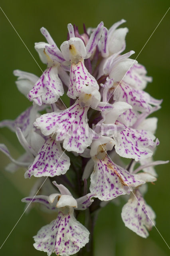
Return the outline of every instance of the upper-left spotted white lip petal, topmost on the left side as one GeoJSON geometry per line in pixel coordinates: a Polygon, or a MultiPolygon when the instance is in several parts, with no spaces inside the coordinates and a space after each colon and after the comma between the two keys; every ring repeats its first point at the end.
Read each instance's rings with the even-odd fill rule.
{"type": "Polygon", "coordinates": [[[56,66],[47,68],[40,79],[36,82],[32,90],[28,94],[28,99],[34,101],[39,106],[44,104],[52,104],[64,94],[61,80],[58,77],[56,66]]]}

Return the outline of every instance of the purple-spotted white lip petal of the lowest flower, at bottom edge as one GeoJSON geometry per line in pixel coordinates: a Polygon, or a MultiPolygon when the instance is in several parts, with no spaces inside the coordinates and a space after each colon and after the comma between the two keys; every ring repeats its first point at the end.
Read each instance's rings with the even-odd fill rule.
{"type": "Polygon", "coordinates": [[[52,252],[57,255],[69,256],[75,254],[89,242],[89,231],[78,222],[73,212],[59,212],[57,219],[43,226],[34,236],[34,247],[37,250],[52,252]]]}

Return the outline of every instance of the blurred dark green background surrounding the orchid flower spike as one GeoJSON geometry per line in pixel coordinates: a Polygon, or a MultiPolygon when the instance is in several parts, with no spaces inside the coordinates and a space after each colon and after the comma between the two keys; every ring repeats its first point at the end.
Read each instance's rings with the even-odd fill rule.
{"type": "MultiPolygon", "coordinates": [[[[169,1],[135,1],[135,0],[86,0],[86,1],[6,1],[1,0],[0,6],[6,16],[16,28],[18,34],[35,57],[41,68],[45,68],[34,50],[34,42],[44,41],[40,28],[47,28],[58,46],[67,38],[67,24],[96,27],[101,20],[109,28],[113,23],[127,20],[125,26],[129,28],[127,34],[127,48],[134,50],[135,58],[144,46],[161,18],[168,10],[169,1]]],[[[162,109],[155,113],[158,117],[156,136],[160,145],[154,156],[155,160],[170,159],[170,88],[169,88],[169,42],[170,42],[170,13],[166,14],[148,44],[138,57],[138,62],[144,64],[148,75],[153,77],[146,91],[153,97],[164,101],[162,109]]],[[[31,105],[30,102],[18,92],[13,76],[14,69],[20,69],[41,75],[41,70],[0,10],[0,120],[15,119],[22,111],[31,105]]],[[[15,134],[3,128],[0,130],[0,142],[5,143],[15,158],[23,152],[15,134]]],[[[25,180],[23,170],[15,174],[4,171],[9,160],[0,152],[1,178],[0,178],[0,244],[10,233],[24,210],[21,198],[28,195],[34,178],[25,180]]],[[[170,174],[169,165],[156,167],[158,181],[156,185],[149,184],[145,195],[146,202],[156,212],[156,227],[160,234],[169,243],[170,238],[170,174]]],[[[168,247],[164,240],[153,228],[147,239],[140,238],[128,230],[121,220],[121,208],[109,204],[103,208],[95,225],[95,256],[166,256],[168,247]]],[[[45,255],[33,247],[32,236],[54,216],[40,212],[38,208],[32,209],[29,215],[24,214],[14,228],[12,234],[0,250],[0,255],[28,256],[45,255]]]]}

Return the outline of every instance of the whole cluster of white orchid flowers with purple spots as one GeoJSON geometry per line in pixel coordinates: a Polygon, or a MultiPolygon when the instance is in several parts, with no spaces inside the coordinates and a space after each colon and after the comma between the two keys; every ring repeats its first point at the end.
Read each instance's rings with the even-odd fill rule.
{"type": "Polygon", "coordinates": [[[130,58],[134,51],[122,54],[128,29],[118,27],[124,22],[109,30],[103,22],[97,28],[84,26],[83,34],[68,24],[60,49],[41,28],[47,42],[36,43],[35,49],[47,68],[40,78],[14,71],[18,90],[33,104],[0,127],[16,133],[25,153],[14,160],[4,144],[0,150],[12,161],[6,170],[23,166],[25,178],[39,178],[22,199],[27,208],[38,202],[56,212],[56,219],[34,236],[34,247],[48,255],[78,252],[90,234],[76,219],[81,210],[90,216],[121,195],[129,195],[121,214],[128,228],[146,238],[154,226],[155,214],[143,194],[146,182],[156,181],[153,166],[168,162],[152,160],[159,144],[157,118],[148,116],[162,100],[144,92],[152,79],[130,58]],[[128,166],[121,157],[131,159],[128,166]],[[42,184],[44,194],[35,195],[42,184]]]}

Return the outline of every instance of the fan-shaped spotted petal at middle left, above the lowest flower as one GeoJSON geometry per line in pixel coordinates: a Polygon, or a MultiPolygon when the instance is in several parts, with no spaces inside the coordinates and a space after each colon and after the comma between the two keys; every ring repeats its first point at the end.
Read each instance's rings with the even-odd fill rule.
{"type": "Polygon", "coordinates": [[[48,138],[38,152],[33,164],[25,173],[25,178],[58,176],[65,174],[70,166],[69,157],[61,149],[60,143],[48,138]]]}

